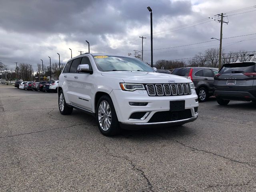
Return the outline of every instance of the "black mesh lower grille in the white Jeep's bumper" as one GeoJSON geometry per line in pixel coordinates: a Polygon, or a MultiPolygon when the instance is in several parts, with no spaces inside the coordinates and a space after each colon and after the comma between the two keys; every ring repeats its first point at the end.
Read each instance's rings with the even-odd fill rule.
{"type": "Polygon", "coordinates": [[[168,121],[176,121],[182,119],[192,118],[191,110],[185,109],[182,111],[160,111],[156,112],[148,121],[148,123],[156,123],[156,122],[168,122],[168,121]]]}

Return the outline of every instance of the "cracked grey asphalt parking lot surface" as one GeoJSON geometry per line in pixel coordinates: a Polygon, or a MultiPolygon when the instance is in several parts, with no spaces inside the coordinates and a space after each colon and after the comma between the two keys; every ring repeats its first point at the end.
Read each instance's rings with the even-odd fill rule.
{"type": "Polygon", "coordinates": [[[0,191],[256,191],[256,104],[210,98],[184,126],[106,137],[56,93],[0,86],[0,191]]]}

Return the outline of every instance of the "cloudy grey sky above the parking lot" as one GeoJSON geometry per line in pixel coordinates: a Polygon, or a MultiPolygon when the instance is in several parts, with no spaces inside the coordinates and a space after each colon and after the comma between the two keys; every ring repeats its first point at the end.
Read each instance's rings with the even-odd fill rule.
{"type": "Polygon", "coordinates": [[[139,36],[144,36],[144,60],[150,62],[148,6],[154,62],[218,48],[219,41],[210,38],[220,38],[214,15],[222,12],[228,22],[224,52],[256,51],[255,0],[0,0],[0,61],[9,68],[25,62],[35,69],[40,59],[49,63],[48,56],[58,62],[58,52],[66,62],[69,48],[73,57],[88,52],[86,40],[91,53],[128,55],[142,50],[139,36]]]}

